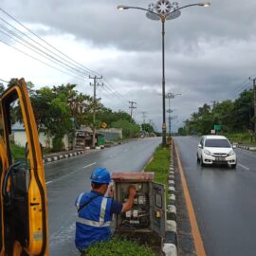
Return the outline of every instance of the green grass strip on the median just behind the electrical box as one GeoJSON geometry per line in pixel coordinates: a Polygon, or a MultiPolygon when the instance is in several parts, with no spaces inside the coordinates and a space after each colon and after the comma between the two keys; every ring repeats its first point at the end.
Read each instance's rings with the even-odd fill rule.
{"type": "Polygon", "coordinates": [[[170,148],[158,147],[153,160],[145,167],[145,172],[155,172],[155,182],[164,184],[168,188],[168,175],[170,167],[170,148]]]}

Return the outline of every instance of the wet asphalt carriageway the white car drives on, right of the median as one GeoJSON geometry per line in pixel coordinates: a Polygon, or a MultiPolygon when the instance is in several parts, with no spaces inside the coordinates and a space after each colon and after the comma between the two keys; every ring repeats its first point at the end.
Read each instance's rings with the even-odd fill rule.
{"type": "Polygon", "coordinates": [[[175,137],[209,256],[256,255],[256,154],[236,149],[236,170],[196,162],[198,137],[175,137]]]}

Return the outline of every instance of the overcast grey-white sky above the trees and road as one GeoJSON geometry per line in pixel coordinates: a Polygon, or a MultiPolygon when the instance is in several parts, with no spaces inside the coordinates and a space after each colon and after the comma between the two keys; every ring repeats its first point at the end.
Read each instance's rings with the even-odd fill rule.
{"type": "MultiPolygon", "coordinates": [[[[148,19],[141,10],[117,9],[119,4],[148,9],[150,3],[156,1],[2,0],[1,9],[76,63],[62,59],[63,66],[54,64],[14,41],[6,33],[12,31],[13,37],[13,32],[19,33],[16,27],[34,40],[29,41],[32,46],[41,47],[35,43],[40,42],[38,38],[0,10],[0,79],[24,77],[36,88],[72,82],[82,93],[92,95],[87,73],[82,78],[74,70],[82,71],[83,65],[103,76],[104,86],[97,89],[97,96],[106,107],[130,112],[128,101],[136,101],[137,122],[142,122],[142,112],[146,112],[146,121],[153,119],[160,130],[161,22],[148,19]],[[73,69],[67,70],[70,66],[73,69]]],[[[179,7],[193,3],[198,2],[178,2],[179,7]]],[[[171,100],[172,131],[204,103],[236,99],[251,87],[248,77],[256,75],[256,1],[210,3],[210,8],[182,9],[178,18],[165,24],[166,93],[181,94],[171,100]]],[[[28,41],[24,34],[20,37],[28,41]]],[[[44,50],[48,58],[53,55],[44,50]]]]}

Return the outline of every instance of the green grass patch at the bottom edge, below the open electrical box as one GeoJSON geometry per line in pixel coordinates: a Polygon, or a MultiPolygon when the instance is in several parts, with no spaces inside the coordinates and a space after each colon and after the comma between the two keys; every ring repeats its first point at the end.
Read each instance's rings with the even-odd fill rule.
{"type": "Polygon", "coordinates": [[[125,240],[117,236],[108,242],[98,242],[88,247],[84,254],[86,256],[155,256],[149,247],[139,246],[135,242],[125,240]]]}

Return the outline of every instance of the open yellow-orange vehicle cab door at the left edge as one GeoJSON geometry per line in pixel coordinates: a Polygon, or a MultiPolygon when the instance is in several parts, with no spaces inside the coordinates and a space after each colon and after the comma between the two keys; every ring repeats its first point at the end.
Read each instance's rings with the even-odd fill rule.
{"type": "Polygon", "coordinates": [[[44,165],[24,79],[0,98],[0,190],[0,255],[48,255],[44,165]]]}

